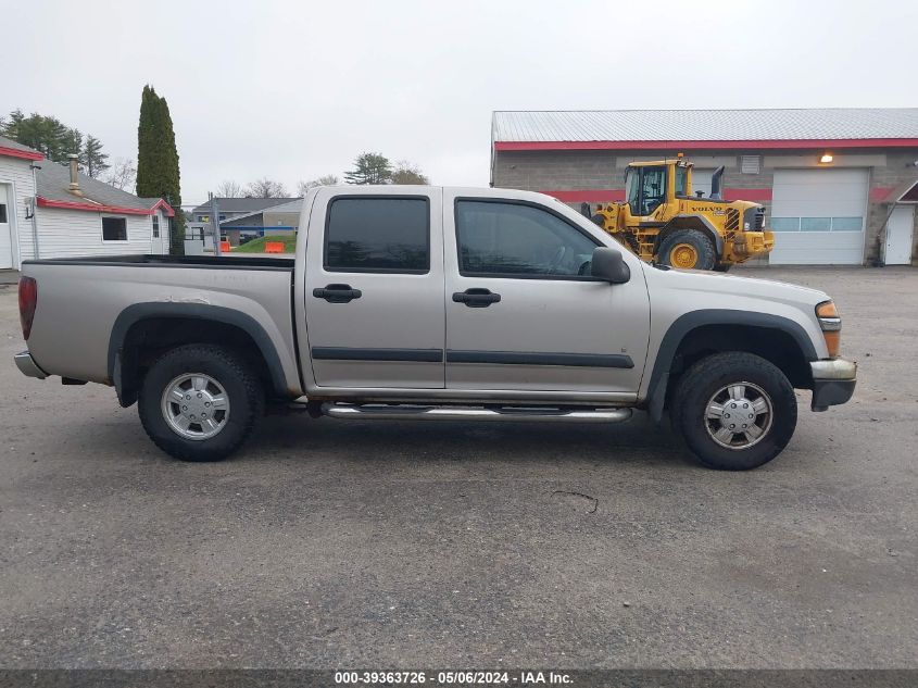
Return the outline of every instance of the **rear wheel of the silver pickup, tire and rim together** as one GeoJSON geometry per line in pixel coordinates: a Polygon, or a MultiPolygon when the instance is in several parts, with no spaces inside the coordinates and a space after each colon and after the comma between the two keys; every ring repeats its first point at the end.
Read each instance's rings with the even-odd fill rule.
{"type": "Polygon", "coordinates": [[[187,345],[149,370],[138,410],[147,435],[171,456],[219,461],[251,435],[264,413],[264,389],[232,350],[187,345]]]}

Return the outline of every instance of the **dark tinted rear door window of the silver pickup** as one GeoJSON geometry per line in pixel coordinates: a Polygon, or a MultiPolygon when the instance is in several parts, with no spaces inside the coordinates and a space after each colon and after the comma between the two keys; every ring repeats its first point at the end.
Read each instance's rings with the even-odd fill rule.
{"type": "Polygon", "coordinates": [[[429,201],[391,196],[332,199],[323,262],[329,272],[429,272],[429,201]]]}

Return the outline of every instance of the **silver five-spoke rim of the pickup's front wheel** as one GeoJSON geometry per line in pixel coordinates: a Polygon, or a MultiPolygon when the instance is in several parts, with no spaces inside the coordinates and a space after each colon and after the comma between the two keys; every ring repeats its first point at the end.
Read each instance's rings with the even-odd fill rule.
{"type": "Polygon", "coordinates": [[[704,425],[710,439],[727,449],[749,449],[760,442],[775,410],[758,385],[732,383],[718,389],[705,406],[704,425]]]}

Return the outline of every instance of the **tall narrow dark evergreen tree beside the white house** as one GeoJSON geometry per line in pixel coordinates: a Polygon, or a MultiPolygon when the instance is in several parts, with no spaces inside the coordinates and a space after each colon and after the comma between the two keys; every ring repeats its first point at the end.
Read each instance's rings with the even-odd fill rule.
{"type": "Polygon", "coordinates": [[[168,103],[144,86],[140,97],[140,123],[137,127],[137,195],[162,198],[175,210],[172,252],[185,250],[185,214],[181,212],[180,175],[175,130],[168,103]]]}

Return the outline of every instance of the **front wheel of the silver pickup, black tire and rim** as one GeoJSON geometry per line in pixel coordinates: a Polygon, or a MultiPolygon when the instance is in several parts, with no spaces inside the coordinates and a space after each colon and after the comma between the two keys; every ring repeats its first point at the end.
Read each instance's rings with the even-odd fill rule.
{"type": "Polygon", "coordinates": [[[766,464],[788,446],[796,427],[796,397],[790,381],[775,365],[752,353],[729,351],[702,359],[679,379],[672,403],[675,408],[670,409],[670,418],[674,426],[702,465],[709,468],[749,471],[766,464]],[[733,399],[728,388],[741,384],[743,393],[733,399]],[[721,396],[722,390],[727,390],[726,399],[721,396]],[[759,397],[765,398],[764,403],[758,401],[759,397]],[[708,403],[721,399],[722,404],[715,403],[722,406],[722,415],[709,418],[708,403]],[[744,409],[743,404],[747,402],[751,406],[744,409]],[[733,404],[739,408],[731,409],[733,404]],[[756,404],[768,406],[769,411],[756,412],[756,404]],[[728,412],[732,415],[729,420],[728,412]],[[755,417],[750,421],[752,414],[755,417]],[[727,424],[733,421],[738,431],[727,441],[735,442],[735,447],[726,447],[715,439],[714,434],[731,433],[727,424]],[[752,439],[745,430],[741,430],[741,422],[755,424],[764,431],[752,439]]]}

